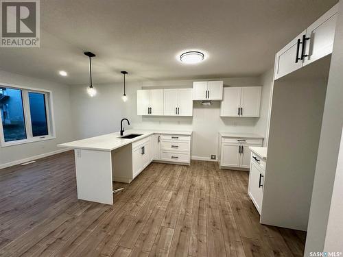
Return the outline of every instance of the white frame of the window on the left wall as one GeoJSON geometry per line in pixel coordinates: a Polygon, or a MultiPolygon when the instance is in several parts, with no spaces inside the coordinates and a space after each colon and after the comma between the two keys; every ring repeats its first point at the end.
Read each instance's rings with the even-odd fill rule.
{"type": "Polygon", "coordinates": [[[56,138],[55,134],[55,119],[54,119],[54,108],[52,103],[52,92],[51,90],[43,88],[32,88],[27,86],[19,86],[14,84],[1,83],[0,86],[4,88],[14,88],[21,90],[22,100],[23,100],[23,112],[25,119],[25,130],[26,130],[26,139],[13,140],[5,142],[5,136],[3,134],[2,127],[2,117],[0,115],[0,143],[1,147],[10,147],[12,145],[21,145],[25,143],[34,143],[43,140],[51,140],[56,138]],[[45,96],[45,112],[47,114],[47,130],[48,134],[45,136],[33,136],[32,134],[32,123],[31,123],[31,113],[29,110],[29,92],[44,94],[45,96]]]}

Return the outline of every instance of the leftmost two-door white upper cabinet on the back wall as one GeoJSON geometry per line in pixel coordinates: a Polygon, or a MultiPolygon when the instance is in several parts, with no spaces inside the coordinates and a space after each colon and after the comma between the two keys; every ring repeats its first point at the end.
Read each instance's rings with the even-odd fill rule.
{"type": "Polygon", "coordinates": [[[163,89],[137,90],[137,115],[163,115],[163,89]]]}

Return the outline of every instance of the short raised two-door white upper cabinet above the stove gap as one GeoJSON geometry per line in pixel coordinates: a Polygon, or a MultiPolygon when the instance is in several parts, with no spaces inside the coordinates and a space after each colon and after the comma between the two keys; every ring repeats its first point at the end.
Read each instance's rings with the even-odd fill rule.
{"type": "Polygon", "coordinates": [[[193,100],[222,100],[223,82],[193,82],[193,100]]]}

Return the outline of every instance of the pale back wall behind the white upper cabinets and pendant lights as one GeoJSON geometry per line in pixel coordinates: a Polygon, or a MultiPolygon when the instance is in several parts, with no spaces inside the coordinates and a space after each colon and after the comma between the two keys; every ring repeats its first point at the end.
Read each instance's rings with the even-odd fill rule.
{"type": "MultiPolygon", "coordinates": [[[[227,78],[223,80],[225,86],[261,86],[260,77],[227,78]]],[[[130,120],[130,127],[193,130],[193,158],[209,160],[211,154],[218,154],[218,132],[255,132],[255,125],[259,118],[220,117],[220,102],[213,102],[210,107],[204,107],[198,102],[193,102],[193,117],[138,116],[138,89],[191,88],[193,80],[130,82],[128,76],[127,82],[126,95],[128,95],[128,101],[126,103],[121,100],[123,94],[122,83],[97,86],[98,93],[93,98],[86,95],[86,86],[71,86],[71,104],[77,138],[119,131],[119,122],[125,117],[130,120]]],[[[265,112],[264,108],[263,112],[265,112]]],[[[128,126],[125,125],[125,127],[128,126]]],[[[265,129],[261,130],[265,131],[265,129]]]]}

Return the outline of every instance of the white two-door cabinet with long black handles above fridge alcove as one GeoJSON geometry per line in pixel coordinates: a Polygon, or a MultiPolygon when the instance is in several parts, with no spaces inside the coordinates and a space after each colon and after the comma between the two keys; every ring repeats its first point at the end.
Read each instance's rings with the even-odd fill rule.
{"type": "Polygon", "coordinates": [[[337,16],[338,4],[276,53],[274,79],[332,53],[337,16]]]}

